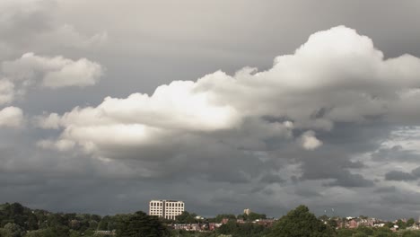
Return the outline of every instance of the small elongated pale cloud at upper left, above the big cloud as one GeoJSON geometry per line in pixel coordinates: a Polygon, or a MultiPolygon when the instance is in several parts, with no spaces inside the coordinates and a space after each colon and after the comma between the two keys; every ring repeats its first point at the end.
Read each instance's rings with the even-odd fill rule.
{"type": "Polygon", "coordinates": [[[61,56],[41,57],[34,53],[3,62],[2,71],[13,81],[31,84],[40,80],[50,88],[92,85],[103,74],[101,65],[86,58],[74,61],[61,56]]]}

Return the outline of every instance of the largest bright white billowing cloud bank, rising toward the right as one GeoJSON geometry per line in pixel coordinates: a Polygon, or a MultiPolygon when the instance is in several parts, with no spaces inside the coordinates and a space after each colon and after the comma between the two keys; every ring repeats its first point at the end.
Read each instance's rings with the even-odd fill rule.
{"type": "MultiPolygon", "coordinates": [[[[186,134],[240,133],[248,129],[245,121],[254,119],[284,135],[310,129],[298,140],[313,150],[322,145],[315,131],[334,129],[337,122],[404,122],[414,108],[401,108],[398,114],[389,108],[403,103],[407,92],[420,85],[418,75],[419,58],[384,59],[372,40],[339,26],[311,35],[293,55],[276,57],[267,71],[245,67],[232,76],[217,71],[197,82],[159,86],[150,96],[108,97],[97,107],[77,107],[59,118],[51,115],[55,126],[47,127],[59,125],[59,139],[99,151],[171,143],[186,134]]],[[[41,121],[43,127],[51,116],[41,121]]],[[[260,141],[273,136],[245,134],[260,141]]]]}

